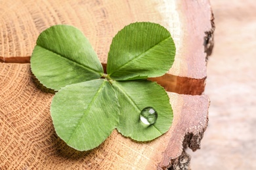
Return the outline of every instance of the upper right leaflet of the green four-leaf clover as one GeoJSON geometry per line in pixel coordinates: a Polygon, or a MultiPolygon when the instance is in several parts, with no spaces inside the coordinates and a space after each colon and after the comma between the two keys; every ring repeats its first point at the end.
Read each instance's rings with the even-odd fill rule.
{"type": "Polygon", "coordinates": [[[108,53],[107,73],[114,80],[161,76],[173,65],[175,45],[159,24],[137,22],[114,37],[108,53]]]}

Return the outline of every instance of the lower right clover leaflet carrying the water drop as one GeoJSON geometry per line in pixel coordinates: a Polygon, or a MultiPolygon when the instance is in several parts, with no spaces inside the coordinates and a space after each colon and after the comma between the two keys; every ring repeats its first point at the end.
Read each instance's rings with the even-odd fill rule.
{"type": "Polygon", "coordinates": [[[136,141],[150,141],[165,133],[171,126],[173,112],[169,97],[156,82],[133,80],[113,82],[120,105],[117,130],[136,141]],[[140,114],[146,107],[157,112],[154,124],[145,124],[140,114]]]}

